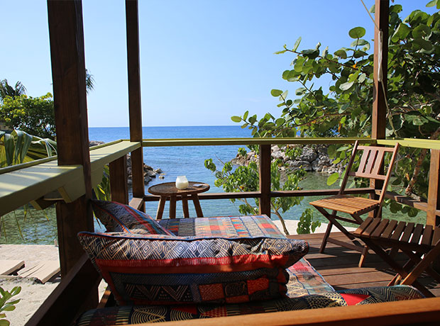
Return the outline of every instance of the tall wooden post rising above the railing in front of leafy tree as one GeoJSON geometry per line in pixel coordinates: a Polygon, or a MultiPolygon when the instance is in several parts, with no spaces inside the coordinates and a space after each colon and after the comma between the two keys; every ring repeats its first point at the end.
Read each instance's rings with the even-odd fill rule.
{"type": "Polygon", "coordinates": [[[375,27],[374,31],[374,62],[373,62],[373,117],[371,137],[385,139],[385,126],[387,124],[387,62],[388,62],[388,15],[390,0],[375,0],[375,25],[383,33],[383,42],[380,42],[380,33],[375,27]],[[381,53],[381,56],[380,56],[381,53]],[[380,61],[380,57],[382,60],[380,61]],[[382,70],[383,85],[379,81],[379,68],[382,70]],[[385,89],[385,93],[384,90],[385,89]]]}

